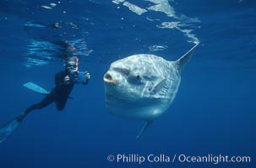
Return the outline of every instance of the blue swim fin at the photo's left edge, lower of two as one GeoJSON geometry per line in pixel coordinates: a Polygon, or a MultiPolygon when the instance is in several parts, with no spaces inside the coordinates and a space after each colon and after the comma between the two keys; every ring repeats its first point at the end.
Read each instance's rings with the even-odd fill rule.
{"type": "Polygon", "coordinates": [[[0,129],[0,144],[3,143],[7,137],[14,132],[15,129],[19,127],[19,123],[25,118],[25,114],[19,115],[19,117],[14,118],[14,120],[6,123],[3,128],[0,129]]]}

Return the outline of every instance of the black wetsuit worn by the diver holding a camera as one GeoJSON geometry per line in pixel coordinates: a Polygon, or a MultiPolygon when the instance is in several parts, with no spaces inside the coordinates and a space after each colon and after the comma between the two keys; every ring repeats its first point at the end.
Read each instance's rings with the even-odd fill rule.
{"type": "Polygon", "coordinates": [[[30,108],[25,110],[25,115],[30,113],[32,110],[45,108],[52,102],[56,103],[58,110],[63,110],[65,108],[68,96],[74,87],[73,81],[64,81],[65,76],[69,76],[68,71],[60,71],[55,75],[55,87],[52,89],[52,92],[46,95],[46,97],[41,100],[41,102],[36,103],[30,108]]]}

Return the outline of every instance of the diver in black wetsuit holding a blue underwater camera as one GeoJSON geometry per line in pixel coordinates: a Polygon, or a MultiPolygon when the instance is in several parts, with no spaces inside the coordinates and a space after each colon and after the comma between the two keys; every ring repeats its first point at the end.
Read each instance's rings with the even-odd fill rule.
{"type": "MultiPolygon", "coordinates": [[[[60,71],[55,75],[55,87],[52,89],[52,92],[47,93],[46,97],[44,97],[41,102],[33,104],[30,108],[27,108],[24,113],[21,113],[17,118],[14,118],[13,121],[7,123],[0,129],[0,143],[2,143],[8,135],[12,134],[19,126],[19,123],[33,110],[45,108],[52,102],[55,102],[57,110],[62,111],[65,108],[68,96],[70,92],[72,92],[74,84],[80,83],[86,85],[90,80],[90,73],[88,71],[79,71],[79,58],[77,56],[68,57],[65,66],[64,71],[60,71]]],[[[31,89],[35,91],[35,89],[31,89]]]]}

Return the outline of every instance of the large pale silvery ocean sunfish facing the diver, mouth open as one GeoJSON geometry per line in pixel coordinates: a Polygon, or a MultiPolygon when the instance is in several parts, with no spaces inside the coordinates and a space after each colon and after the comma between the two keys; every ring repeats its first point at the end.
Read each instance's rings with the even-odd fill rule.
{"type": "Polygon", "coordinates": [[[106,108],[119,117],[144,120],[146,123],[137,139],[171,105],[181,81],[182,68],[196,46],[176,61],[139,54],[112,62],[103,77],[106,108]]]}

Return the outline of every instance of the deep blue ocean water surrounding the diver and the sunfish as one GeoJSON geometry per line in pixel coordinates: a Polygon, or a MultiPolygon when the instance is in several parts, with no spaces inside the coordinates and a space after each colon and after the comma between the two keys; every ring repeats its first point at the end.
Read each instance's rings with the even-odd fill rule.
{"type": "Polygon", "coordinates": [[[0,125],[43,98],[25,82],[54,87],[63,55],[79,55],[91,80],[74,87],[62,112],[51,104],[25,118],[0,144],[0,167],[255,167],[255,7],[253,0],[1,0],[0,125]],[[139,53],[177,60],[198,43],[171,107],[135,139],[144,123],[105,107],[110,64],[139,53]],[[171,161],[117,162],[151,154],[171,161]],[[174,155],[250,162],[172,163],[174,155]]]}

